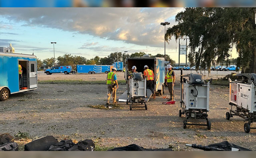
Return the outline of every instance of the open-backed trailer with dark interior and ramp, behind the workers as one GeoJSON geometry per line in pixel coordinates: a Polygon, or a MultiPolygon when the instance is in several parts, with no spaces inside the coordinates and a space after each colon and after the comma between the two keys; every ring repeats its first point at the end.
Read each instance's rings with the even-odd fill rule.
{"type": "MultiPolygon", "coordinates": [[[[125,79],[127,80],[128,71],[132,70],[133,66],[136,66],[137,72],[144,72],[144,66],[147,65],[150,70],[154,72],[154,91],[162,95],[164,93],[164,79],[165,79],[165,61],[164,58],[150,57],[149,55],[144,55],[143,57],[126,58],[125,67],[125,79]]],[[[128,84],[126,83],[126,88],[128,84]]],[[[147,89],[146,102],[151,97],[152,92],[147,89]]],[[[126,102],[128,99],[127,90],[119,97],[118,101],[126,102]]]]}

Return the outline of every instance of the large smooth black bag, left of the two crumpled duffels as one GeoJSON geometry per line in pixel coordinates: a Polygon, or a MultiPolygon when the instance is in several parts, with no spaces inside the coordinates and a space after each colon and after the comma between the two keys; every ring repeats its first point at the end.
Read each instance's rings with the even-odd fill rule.
{"type": "Polygon", "coordinates": [[[24,151],[47,151],[51,145],[57,144],[58,140],[53,136],[45,136],[25,144],[24,151]]]}

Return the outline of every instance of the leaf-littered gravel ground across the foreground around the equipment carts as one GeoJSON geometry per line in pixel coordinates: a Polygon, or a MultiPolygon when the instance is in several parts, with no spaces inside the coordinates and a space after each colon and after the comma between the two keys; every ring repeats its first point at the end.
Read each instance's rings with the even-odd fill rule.
{"type": "MultiPolygon", "coordinates": [[[[53,76],[57,75],[47,77],[53,76]]],[[[117,96],[124,91],[125,85],[120,85],[117,96]]],[[[178,116],[179,93],[177,83],[175,105],[163,105],[165,100],[157,96],[147,103],[148,110],[130,111],[125,103],[118,103],[120,109],[105,110],[88,107],[105,104],[104,84],[39,83],[36,90],[12,94],[8,100],[0,102],[0,131],[11,135],[19,131],[29,133],[30,140],[17,140],[20,146],[33,139],[53,135],[59,141],[93,139],[101,147],[135,143],[145,148],[197,150],[185,147],[185,143],[208,145],[229,141],[256,150],[256,130],[245,133],[242,118],[234,116],[230,120],[225,119],[225,113],[230,108],[228,87],[210,87],[208,118],[211,130],[205,126],[189,125],[183,129],[185,117],[178,116]]],[[[205,123],[205,120],[200,121],[205,123]]],[[[191,119],[191,122],[195,121],[191,119]]],[[[252,126],[256,126],[255,123],[252,126]]]]}

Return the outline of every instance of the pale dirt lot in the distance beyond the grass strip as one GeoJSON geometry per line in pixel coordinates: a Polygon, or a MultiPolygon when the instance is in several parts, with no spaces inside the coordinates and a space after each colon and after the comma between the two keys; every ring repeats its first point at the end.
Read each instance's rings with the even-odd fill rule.
{"type": "MultiPolygon", "coordinates": [[[[180,78],[180,71],[174,70],[176,79],[180,78]]],[[[218,78],[223,78],[224,76],[231,74],[233,71],[218,71],[218,78]]],[[[190,74],[191,71],[183,71],[184,74],[190,74]]],[[[196,71],[192,71],[192,73],[196,73],[196,71]]],[[[202,71],[202,73],[205,76],[205,79],[217,79],[217,71],[211,71],[210,76],[208,77],[208,71],[202,71]]],[[[233,72],[235,73],[235,72],[233,72]]],[[[124,73],[117,73],[118,80],[124,79],[124,73]]],[[[45,80],[86,80],[86,81],[95,81],[95,80],[106,80],[106,74],[52,74],[52,75],[46,75],[43,71],[38,72],[38,79],[39,81],[45,81],[45,80]]]]}

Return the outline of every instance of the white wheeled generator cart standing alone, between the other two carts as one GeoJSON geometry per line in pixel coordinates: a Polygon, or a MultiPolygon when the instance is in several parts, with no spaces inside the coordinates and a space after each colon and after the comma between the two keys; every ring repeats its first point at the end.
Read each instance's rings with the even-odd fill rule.
{"type": "MultiPolygon", "coordinates": [[[[212,79],[211,79],[212,80],[212,79]]],[[[185,114],[186,119],[183,120],[183,128],[187,125],[207,126],[211,129],[211,122],[208,120],[209,111],[209,89],[210,82],[204,80],[203,74],[187,74],[182,75],[181,71],[181,101],[179,117],[185,114]],[[186,79],[185,77],[188,77],[186,79]],[[206,124],[188,123],[188,119],[206,119],[206,124]]]]}

